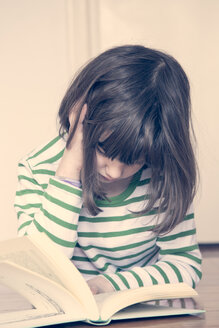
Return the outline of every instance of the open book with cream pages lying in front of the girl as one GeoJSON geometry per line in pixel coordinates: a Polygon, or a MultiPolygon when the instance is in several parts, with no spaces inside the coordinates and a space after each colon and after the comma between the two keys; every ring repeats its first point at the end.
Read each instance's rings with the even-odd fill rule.
{"type": "Polygon", "coordinates": [[[0,284],[30,304],[22,309],[21,299],[16,302],[20,308],[10,310],[5,297],[2,309],[0,303],[0,328],[74,321],[107,324],[111,320],[203,312],[143,303],[195,297],[196,291],[184,283],[93,295],[81,273],[44,233],[0,242],[0,284]]]}

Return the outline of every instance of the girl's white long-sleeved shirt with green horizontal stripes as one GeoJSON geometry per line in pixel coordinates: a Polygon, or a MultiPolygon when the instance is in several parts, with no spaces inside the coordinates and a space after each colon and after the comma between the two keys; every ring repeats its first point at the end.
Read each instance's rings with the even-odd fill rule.
{"type": "Polygon", "coordinates": [[[92,216],[83,207],[82,189],[55,176],[64,149],[65,141],[56,137],[20,161],[18,234],[44,231],[86,280],[101,274],[116,290],[175,282],[195,287],[201,255],[192,209],[166,235],[151,231],[156,210],[133,213],[149,197],[150,169],[141,169],[120,195],[97,200],[102,212],[92,216]]]}

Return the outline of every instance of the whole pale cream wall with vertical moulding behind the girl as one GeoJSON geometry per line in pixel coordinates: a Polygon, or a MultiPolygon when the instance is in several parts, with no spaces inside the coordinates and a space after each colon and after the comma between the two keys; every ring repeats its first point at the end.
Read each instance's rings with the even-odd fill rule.
{"type": "Polygon", "coordinates": [[[219,242],[218,0],[0,0],[0,240],[16,235],[17,162],[57,133],[56,113],[76,70],[126,43],[169,52],[190,78],[198,239],[219,242]]]}

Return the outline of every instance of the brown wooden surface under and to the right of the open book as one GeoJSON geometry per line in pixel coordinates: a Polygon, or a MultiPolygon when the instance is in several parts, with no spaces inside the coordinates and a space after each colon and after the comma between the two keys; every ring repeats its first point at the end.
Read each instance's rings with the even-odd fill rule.
{"type": "MultiPolygon", "coordinates": [[[[219,328],[219,246],[204,253],[203,278],[197,287],[200,302],[205,309],[204,314],[197,316],[163,317],[153,319],[133,319],[113,321],[109,328],[219,328]]],[[[61,325],[52,325],[50,328],[88,328],[97,327],[86,323],[76,322],[61,325]]]]}

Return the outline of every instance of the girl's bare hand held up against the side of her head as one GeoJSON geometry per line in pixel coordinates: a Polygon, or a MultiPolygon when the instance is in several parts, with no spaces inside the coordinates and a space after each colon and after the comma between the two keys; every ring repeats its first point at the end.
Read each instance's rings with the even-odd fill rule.
{"type": "MultiPolygon", "coordinates": [[[[65,149],[63,157],[59,163],[56,175],[73,180],[80,180],[80,173],[83,163],[83,120],[87,111],[87,104],[84,104],[78,121],[77,129],[68,148],[65,149]]],[[[70,128],[72,131],[75,122],[75,108],[69,115],[70,128]]]]}

